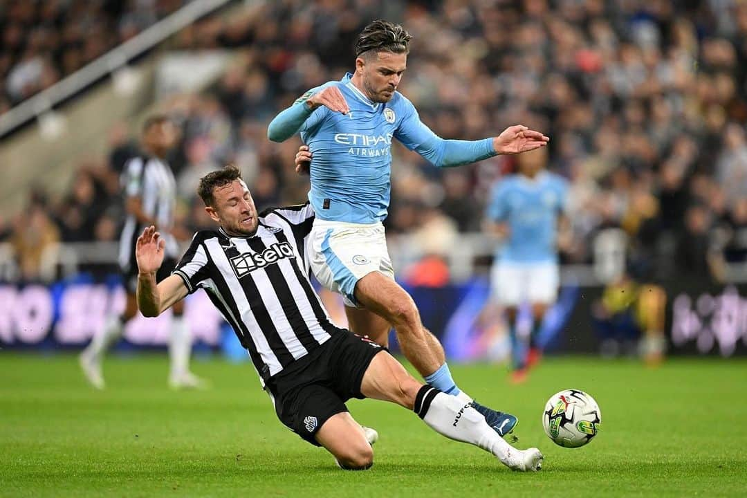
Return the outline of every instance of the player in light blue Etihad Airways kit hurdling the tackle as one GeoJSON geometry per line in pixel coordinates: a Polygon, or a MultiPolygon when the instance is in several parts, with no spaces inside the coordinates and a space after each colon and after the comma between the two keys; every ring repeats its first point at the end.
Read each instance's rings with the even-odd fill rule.
{"type": "Polygon", "coordinates": [[[549,139],[521,125],[485,140],[438,137],[396,91],[410,38],[400,25],[372,22],[356,43],[355,72],[304,93],[270,122],[267,137],[282,142],[300,132],[309,146],[309,201],[316,213],[308,248],[311,270],[343,296],[350,329],[386,345],[393,326],[404,355],[426,382],[472,403],[506,435],[516,417],[480,405],[456,387],[441,343],[394,281],[382,225],[391,187],[391,141],[447,167],[539,149],[549,139]]]}

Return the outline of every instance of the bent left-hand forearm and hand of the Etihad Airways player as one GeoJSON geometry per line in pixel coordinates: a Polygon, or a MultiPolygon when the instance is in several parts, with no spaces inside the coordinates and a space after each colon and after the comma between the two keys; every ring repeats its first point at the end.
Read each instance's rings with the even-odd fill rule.
{"type": "Polygon", "coordinates": [[[267,138],[273,142],[288,140],[300,131],[306,119],[309,119],[311,113],[320,107],[328,108],[329,111],[335,113],[350,112],[345,97],[338,87],[325,87],[313,94],[307,92],[291,107],[275,116],[275,119],[267,126],[267,138]]]}

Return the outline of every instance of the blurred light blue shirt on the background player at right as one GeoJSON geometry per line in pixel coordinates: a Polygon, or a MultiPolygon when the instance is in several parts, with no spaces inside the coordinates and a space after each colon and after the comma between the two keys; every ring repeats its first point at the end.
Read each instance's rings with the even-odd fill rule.
{"type": "Polygon", "coordinates": [[[535,178],[509,175],[493,187],[487,217],[506,222],[509,236],[496,257],[509,263],[557,261],[557,223],[565,211],[568,182],[542,171],[535,178]]]}

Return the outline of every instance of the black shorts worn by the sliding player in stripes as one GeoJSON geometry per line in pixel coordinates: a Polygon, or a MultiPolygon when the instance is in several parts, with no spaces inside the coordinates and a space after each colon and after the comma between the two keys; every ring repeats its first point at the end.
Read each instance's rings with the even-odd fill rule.
{"type": "Polygon", "coordinates": [[[282,423],[314,446],[332,415],[347,411],[350,398],[363,399],[361,382],[377,353],[386,349],[341,330],[295,364],[267,379],[282,423]]]}

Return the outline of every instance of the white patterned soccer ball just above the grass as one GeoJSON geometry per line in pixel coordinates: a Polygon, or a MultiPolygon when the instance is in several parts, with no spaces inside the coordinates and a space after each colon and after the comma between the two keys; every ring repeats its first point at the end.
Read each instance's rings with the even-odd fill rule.
{"type": "Polygon", "coordinates": [[[577,448],[592,441],[601,420],[602,412],[594,398],[577,389],[553,394],[542,414],[545,434],[565,448],[577,448]]]}

